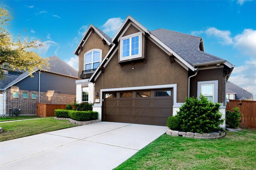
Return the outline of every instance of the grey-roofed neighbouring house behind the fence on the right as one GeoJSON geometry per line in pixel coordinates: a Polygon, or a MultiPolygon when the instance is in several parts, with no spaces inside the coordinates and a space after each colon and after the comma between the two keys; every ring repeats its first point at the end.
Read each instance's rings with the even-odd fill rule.
{"type": "Polygon", "coordinates": [[[231,100],[253,100],[253,95],[247,90],[244,90],[236,84],[228,81],[226,98],[231,100]]]}

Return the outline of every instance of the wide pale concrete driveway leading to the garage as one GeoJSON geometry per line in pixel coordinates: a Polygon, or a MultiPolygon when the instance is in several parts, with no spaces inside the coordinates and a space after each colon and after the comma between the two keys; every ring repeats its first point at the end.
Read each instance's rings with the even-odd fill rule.
{"type": "Polygon", "coordinates": [[[100,122],[0,143],[1,170],[110,170],[167,127],[100,122]]]}

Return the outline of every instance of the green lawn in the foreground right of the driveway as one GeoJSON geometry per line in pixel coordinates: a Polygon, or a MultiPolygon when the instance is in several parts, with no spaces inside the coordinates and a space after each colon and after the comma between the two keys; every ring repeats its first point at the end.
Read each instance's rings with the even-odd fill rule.
{"type": "Polygon", "coordinates": [[[256,130],[204,140],[162,135],[115,170],[256,169],[256,130]]]}

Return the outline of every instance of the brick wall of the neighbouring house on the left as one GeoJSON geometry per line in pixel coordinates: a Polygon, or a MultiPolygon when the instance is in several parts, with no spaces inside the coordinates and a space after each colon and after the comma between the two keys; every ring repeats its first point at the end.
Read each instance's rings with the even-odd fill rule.
{"type": "MultiPolygon", "coordinates": [[[[52,92],[40,92],[40,103],[44,104],[69,104],[75,101],[75,95],[59,94],[52,92]]],[[[36,114],[38,92],[28,90],[6,90],[6,115],[9,109],[21,109],[21,114],[36,114]],[[18,98],[13,98],[12,92],[18,92],[18,98]],[[22,98],[22,93],[27,92],[28,98],[22,98]],[[32,93],[36,93],[36,99],[32,99],[32,93]]]]}

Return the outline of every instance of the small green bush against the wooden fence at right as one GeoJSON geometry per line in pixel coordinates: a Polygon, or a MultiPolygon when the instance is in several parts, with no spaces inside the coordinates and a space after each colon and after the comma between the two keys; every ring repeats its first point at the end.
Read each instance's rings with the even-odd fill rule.
{"type": "Polygon", "coordinates": [[[239,111],[239,107],[234,107],[232,111],[226,111],[226,124],[229,125],[230,128],[237,128],[240,125],[240,117],[242,116],[239,111]]]}

